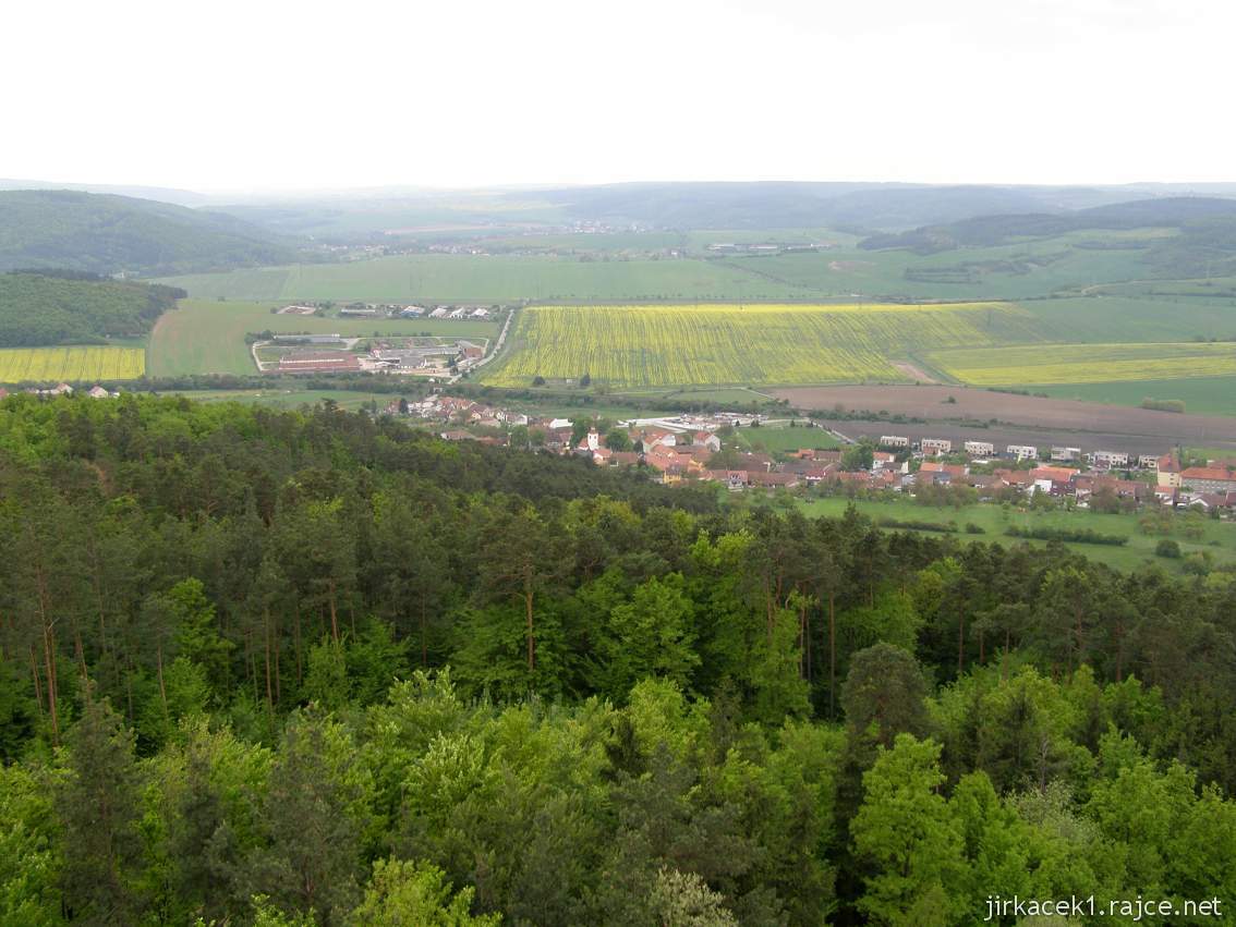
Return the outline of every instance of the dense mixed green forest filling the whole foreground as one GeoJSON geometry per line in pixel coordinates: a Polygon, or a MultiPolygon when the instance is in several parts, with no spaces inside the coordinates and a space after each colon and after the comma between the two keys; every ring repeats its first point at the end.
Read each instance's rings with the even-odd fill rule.
{"type": "Polygon", "coordinates": [[[0,922],[1234,897],[1234,630],[1232,574],[739,508],[330,404],[15,396],[0,922]]]}

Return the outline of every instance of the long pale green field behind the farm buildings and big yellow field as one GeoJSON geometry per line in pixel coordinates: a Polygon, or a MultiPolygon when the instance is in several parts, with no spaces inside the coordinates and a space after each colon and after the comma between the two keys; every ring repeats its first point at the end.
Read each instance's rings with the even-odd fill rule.
{"type": "Polygon", "coordinates": [[[407,255],[169,277],[199,299],[397,302],[798,299],[807,289],[712,261],[407,255]]]}

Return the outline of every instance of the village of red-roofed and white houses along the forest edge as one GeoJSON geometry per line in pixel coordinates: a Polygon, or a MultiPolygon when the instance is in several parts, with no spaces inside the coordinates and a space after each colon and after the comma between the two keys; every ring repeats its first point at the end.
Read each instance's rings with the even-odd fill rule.
{"type": "MultiPolygon", "coordinates": [[[[417,402],[397,400],[392,415],[421,419],[446,440],[507,445],[513,429],[527,429],[531,446],[577,455],[597,466],[648,468],[661,483],[712,482],[733,492],[784,489],[821,493],[905,493],[969,491],[974,501],[1049,497],[1080,508],[1131,510],[1147,506],[1196,508],[1221,517],[1236,513],[1236,459],[1185,465],[1178,449],[1162,455],[1115,450],[1084,452],[1077,446],[1007,445],[947,439],[920,441],[881,435],[842,449],[800,449],[780,454],[744,450],[733,436],[766,425],[765,415],[713,413],[617,421],[601,429],[587,420],[535,418],[524,413],[435,393],[417,402]],[[932,489],[926,489],[932,487],[932,489]]],[[[811,421],[795,426],[822,428],[811,421]]],[[[803,441],[810,444],[810,441],[803,441]]]]}

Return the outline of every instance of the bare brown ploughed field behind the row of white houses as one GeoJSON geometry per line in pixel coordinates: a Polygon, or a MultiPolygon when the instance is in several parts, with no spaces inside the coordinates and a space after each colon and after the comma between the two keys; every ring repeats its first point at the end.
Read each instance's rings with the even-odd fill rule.
{"type": "MultiPolygon", "coordinates": [[[[847,412],[883,410],[929,421],[954,420],[950,421],[954,429],[965,428],[964,423],[955,419],[999,419],[1000,423],[1052,433],[1060,440],[1065,440],[1069,434],[1089,434],[1109,439],[1157,439],[1153,442],[1156,445],[1187,441],[1205,446],[1236,446],[1236,417],[1153,412],[958,386],[798,387],[770,392],[777,398],[789,399],[798,409],[833,409],[840,405],[847,412]],[[948,402],[949,397],[957,402],[948,402]]],[[[838,426],[842,431],[845,430],[842,423],[838,426]]],[[[983,430],[976,429],[974,438],[979,439],[983,430]]],[[[1006,433],[1009,428],[1001,425],[1001,431],[1006,433]]]]}

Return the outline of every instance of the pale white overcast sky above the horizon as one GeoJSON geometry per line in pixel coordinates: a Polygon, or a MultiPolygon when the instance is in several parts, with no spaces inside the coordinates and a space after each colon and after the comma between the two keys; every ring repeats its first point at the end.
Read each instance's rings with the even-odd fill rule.
{"type": "Polygon", "coordinates": [[[1236,180],[1229,0],[19,2],[0,177],[1236,180]]]}

